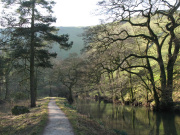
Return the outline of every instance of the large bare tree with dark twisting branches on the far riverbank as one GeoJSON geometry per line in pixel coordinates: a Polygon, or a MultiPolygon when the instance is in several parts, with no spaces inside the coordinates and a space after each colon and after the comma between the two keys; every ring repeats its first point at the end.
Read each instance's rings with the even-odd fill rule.
{"type": "MultiPolygon", "coordinates": [[[[144,53],[131,53],[123,59],[117,59],[118,65],[113,70],[122,68],[124,70],[130,68],[144,68],[148,70],[151,84],[153,86],[156,107],[161,109],[169,109],[172,107],[173,92],[173,70],[180,48],[180,38],[178,34],[178,26],[180,25],[179,13],[177,12],[180,1],[166,0],[103,0],[99,5],[104,8],[106,14],[110,15],[110,19],[114,23],[128,23],[135,32],[121,29],[119,32],[110,33],[108,36],[102,37],[106,39],[106,46],[110,46],[117,41],[126,41],[128,39],[139,38],[143,42],[144,53]],[[153,53],[151,47],[154,47],[153,53]],[[163,48],[166,49],[167,60],[162,53],[163,48]],[[124,67],[126,61],[132,59],[143,59],[145,65],[136,65],[124,67]],[[160,88],[157,89],[157,83],[154,80],[154,71],[152,61],[156,62],[159,68],[160,88]],[[159,92],[160,91],[160,92],[159,92]],[[160,93],[160,101],[158,97],[160,93]]],[[[101,39],[102,39],[101,38],[101,39]]],[[[137,48],[134,44],[134,48],[137,48]]],[[[128,70],[129,71],[129,70],[128,70]]]]}

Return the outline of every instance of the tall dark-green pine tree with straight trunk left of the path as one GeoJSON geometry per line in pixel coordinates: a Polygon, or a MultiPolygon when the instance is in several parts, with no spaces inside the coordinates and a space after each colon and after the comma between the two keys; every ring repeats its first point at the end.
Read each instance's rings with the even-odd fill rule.
{"type": "Polygon", "coordinates": [[[35,107],[35,66],[52,66],[49,60],[56,54],[48,52],[48,47],[53,42],[65,48],[70,48],[72,42],[68,42],[68,35],[56,35],[58,29],[51,26],[56,22],[56,18],[52,16],[54,1],[13,0],[3,2],[8,6],[18,7],[16,20],[13,21],[13,27],[11,26],[11,38],[13,39],[11,46],[16,50],[17,58],[25,58],[29,61],[31,107],[35,107]]]}

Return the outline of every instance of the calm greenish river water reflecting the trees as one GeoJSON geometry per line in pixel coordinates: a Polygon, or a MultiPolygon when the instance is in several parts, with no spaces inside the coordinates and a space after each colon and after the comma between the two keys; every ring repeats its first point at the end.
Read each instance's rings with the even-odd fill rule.
{"type": "Polygon", "coordinates": [[[180,135],[180,114],[152,112],[145,107],[76,100],[78,112],[121,135],[180,135]]]}

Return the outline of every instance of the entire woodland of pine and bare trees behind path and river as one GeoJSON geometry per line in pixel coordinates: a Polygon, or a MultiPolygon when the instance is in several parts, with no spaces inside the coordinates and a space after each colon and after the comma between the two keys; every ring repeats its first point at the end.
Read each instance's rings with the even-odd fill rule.
{"type": "Polygon", "coordinates": [[[29,98],[35,107],[39,96],[78,96],[162,110],[180,102],[179,0],[99,2],[111,23],[85,28],[82,54],[66,59],[50,51],[73,45],[51,26],[53,1],[2,2],[17,9],[1,17],[1,102],[29,98]]]}

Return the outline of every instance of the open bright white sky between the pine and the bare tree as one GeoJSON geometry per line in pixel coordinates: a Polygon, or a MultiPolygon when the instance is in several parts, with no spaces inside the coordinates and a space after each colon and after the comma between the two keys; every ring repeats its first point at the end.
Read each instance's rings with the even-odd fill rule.
{"type": "Polygon", "coordinates": [[[55,26],[93,26],[100,24],[100,16],[95,15],[99,0],[54,0],[55,26]]]}

